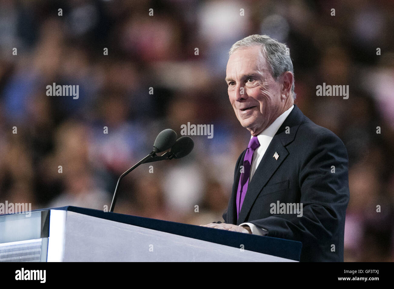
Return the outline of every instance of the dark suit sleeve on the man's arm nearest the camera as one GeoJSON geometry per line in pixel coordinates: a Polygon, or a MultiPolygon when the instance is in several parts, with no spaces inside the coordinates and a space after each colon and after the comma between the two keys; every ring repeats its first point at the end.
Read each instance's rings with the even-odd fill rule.
{"type": "Polygon", "coordinates": [[[348,154],[343,142],[334,133],[314,138],[310,153],[301,161],[299,186],[303,215],[273,215],[248,221],[268,230],[268,235],[322,244],[337,233],[349,201],[348,154]],[[332,172],[335,166],[335,173],[332,172]]]}

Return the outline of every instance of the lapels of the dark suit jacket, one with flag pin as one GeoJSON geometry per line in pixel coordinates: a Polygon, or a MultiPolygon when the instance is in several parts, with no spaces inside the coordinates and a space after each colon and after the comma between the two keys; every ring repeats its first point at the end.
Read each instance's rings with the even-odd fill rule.
{"type": "MultiPolygon", "coordinates": [[[[304,115],[301,110],[299,110],[299,108],[294,104],[292,112],[290,112],[286,120],[284,120],[284,122],[282,123],[281,127],[279,127],[275,136],[272,138],[260,164],[255,171],[255,174],[253,175],[253,178],[249,182],[245,199],[243,200],[241,212],[238,217],[238,221],[236,222],[237,225],[245,222],[253,206],[253,203],[255,202],[260,191],[264,188],[268,180],[272,177],[275,171],[279,168],[279,166],[281,166],[282,162],[288,156],[289,152],[285,146],[294,140],[303,116],[304,115]],[[286,133],[286,127],[290,127],[290,133],[286,133]],[[277,160],[273,157],[275,152],[279,155],[279,158],[277,160]]],[[[239,178],[240,173],[238,173],[237,175],[238,181],[239,178]]],[[[236,182],[235,194],[238,188],[238,181],[236,182]]],[[[235,205],[235,197],[232,197],[232,199],[235,205]]],[[[234,211],[236,211],[236,209],[234,209],[234,211]]],[[[234,220],[236,220],[236,212],[234,220]]]]}

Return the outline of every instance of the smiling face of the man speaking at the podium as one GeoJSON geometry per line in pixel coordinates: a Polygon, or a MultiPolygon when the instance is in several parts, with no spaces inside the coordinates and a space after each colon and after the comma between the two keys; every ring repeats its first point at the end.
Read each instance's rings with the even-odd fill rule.
{"type": "Polygon", "coordinates": [[[240,48],[230,55],[226,82],[235,115],[253,136],[282,114],[282,85],[272,77],[261,46],[240,48]]]}

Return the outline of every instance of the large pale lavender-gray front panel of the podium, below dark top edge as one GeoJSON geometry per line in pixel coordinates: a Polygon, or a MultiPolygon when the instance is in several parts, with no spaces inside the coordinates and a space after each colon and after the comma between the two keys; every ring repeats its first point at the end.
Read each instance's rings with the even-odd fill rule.
{"type": "Polygon", "coordinates": [[[63,261],[293,260],[67,211],[63,261]]]}

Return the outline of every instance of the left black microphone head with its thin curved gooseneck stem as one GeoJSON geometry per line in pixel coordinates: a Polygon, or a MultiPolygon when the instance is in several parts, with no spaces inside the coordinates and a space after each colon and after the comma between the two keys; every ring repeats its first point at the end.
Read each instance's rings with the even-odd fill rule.
{"type": "Polygon", "coordinates": [[[132,171],[133,169],[137,168],[140,164],[144,164],[145,162],[147,162],[147,160],[156,157],[156,153],[160,153],[162,151],[165,151],[165,150],[169,149],[170,147],[173,147],[173,145],[177,141],[177,137],[178,137],[177,133],[175,133],[175,131],[173,131],[172,129],[165,129],[164,131],[161,131],[156,136],[156,140],[154,141],[154,145],[153,145],[153,151],[149,155],[145,156],[145,158],[140,160],[137,164],[135,164],[130,169],[125,171],[119,177],[119,179],[118,179],[118,181],[116,183],[115,192],[113,193],[110,212],[113,212],[113,209],[115,208],[116,197],[117,197],[117,190],[118,190],[119,183],[120,183],[121,179],[123,179],[123,177],[125,177],[125,175],[130,173],[130,171],[132,171]]]}

